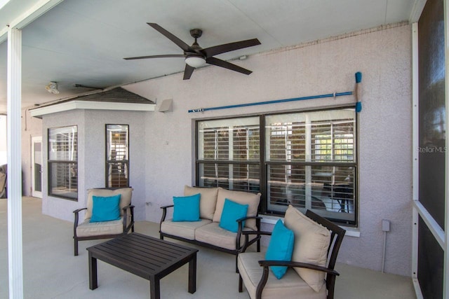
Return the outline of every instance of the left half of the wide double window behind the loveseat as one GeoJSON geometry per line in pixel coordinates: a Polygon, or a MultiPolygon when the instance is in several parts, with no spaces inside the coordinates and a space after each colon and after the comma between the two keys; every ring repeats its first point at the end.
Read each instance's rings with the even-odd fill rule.
{"type": "Polygon", "coordinates": [[[198,123],[200,186],[260,190],[259,118],[198,123]]]}

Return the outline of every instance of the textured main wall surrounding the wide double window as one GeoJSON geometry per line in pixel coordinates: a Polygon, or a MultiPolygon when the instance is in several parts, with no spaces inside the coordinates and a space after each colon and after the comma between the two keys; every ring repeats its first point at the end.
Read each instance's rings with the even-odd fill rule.
{"type": "MultiPolygon", "coordinates": [[[[194,183],[194,120],[352,103],[354,96],[239,109],[187,113],[188,109],[261,102],[354,89],[363,74],[359,114],[360,237],[345,237],[339,260],[380,270],[382,219],[391,221],[385,271],[410,275],[412,236],[411,34],[398,25],[284,48],[236,61],[250,76],[205,67],[189,81],[175,74],[126,89],[156,100],[173,99],[173,112],[145,116],[147,220],[194,183]]],[[[182,62],[180,62],[182,63],[182,62]]],[[[270,225],[265,225],[269,227],[270,225]]]]}

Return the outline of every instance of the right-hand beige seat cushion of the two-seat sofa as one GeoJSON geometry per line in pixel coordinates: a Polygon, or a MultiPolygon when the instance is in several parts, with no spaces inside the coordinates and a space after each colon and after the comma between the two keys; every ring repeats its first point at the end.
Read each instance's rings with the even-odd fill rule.
{"type": "MultiPolygon", "coordinates": [[[[245,228],[243,230],[249,230],[245,228]]],[[[218,247],[235,250],[236,249],[236,232],[230,232],[218,226],[217,222],[209,223],[208,225],[203,225],[201,228],[195,230],[196,241],[212,244],[218,247]]],[[[250,240],[254,239],[255,236],[250,236],[250,240]]],[[[243,246],[245,242],[245,237],[241,236],[240,246],[243,246]]]]}

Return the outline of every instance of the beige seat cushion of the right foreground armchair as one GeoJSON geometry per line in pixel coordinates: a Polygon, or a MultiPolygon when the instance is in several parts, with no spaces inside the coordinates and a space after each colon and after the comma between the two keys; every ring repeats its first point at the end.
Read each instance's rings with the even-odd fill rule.
{"type": "MultiPolygon", "coordinates": [[[[257,284],[262,277],[263,267],[260,267],[259,260],[264,260],[264,253],[240,253],[237,259],[243,284],[252,299],[256,298],[257,284]]],[[[314,291],[289,267],[282,279],[276,279],[272,271],[269,271],[267,284],[262,291],[262,299],[267,298],[326,299],[326,288],[321,288],[319,292],[314,291]]]]}

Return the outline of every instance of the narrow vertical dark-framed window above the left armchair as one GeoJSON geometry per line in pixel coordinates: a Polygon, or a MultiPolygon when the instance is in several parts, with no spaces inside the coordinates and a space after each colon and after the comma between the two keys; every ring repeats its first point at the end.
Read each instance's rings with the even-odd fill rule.
{"type": "Polygon", "coordinates": [[[106,186],[129,186],[128,125],[106,125],[106,186]]]}

